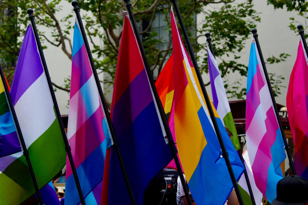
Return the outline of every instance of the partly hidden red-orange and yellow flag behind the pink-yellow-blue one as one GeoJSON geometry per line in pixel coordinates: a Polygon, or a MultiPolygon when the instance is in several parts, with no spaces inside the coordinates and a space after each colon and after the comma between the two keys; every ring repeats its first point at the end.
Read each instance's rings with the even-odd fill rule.
{"type": "MultiPolygon", "coordinates": [[[[161,104],[164,108],[167,120],[168,120],[168,124],[170,127],[173,141],[176,142],[175,132],[174,132],[174,114],[172,114],[174,113],[174,106],[172,106],[173,94],[174,94],[173,55],[169,57],[164,68],[161,70],[160,74],[158,75],[157,80],[155,81],[155,86],[157,89],[157,93],[160,97],[161,104]],[[171,108],[173,110],[171,110],[171,108]]],[[[179,153],[177,153],[177,157],[180,159],[179,153]]],[[[180,166],[182,168],[181,162],[180,162],[180,166]]],[[[171,162],[167,165],[167,167],[177,169],[174,159],[171,160],[171,162]]],[[[182,171],[183,171],[183,168],[182,168],[182,171]]]]}

